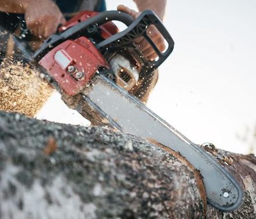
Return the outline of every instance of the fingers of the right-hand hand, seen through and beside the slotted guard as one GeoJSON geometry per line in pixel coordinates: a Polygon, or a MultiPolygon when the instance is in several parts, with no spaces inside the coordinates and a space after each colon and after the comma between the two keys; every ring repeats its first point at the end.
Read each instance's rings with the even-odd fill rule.
{"type": "MultiPolygon", "coordinates": [[[[135,10],[132,10],[130,8],[127,8],[124,5],[119,5],[118,10],[122,12],[126,12],[127,14],[130,14],[130,16],[133,17],[134,19],[137,19],[137,17],[141,13],[141,12],[136,12],[135,10]]],[[[151,25],[147,30],[147,34],[151,38],[151,40],[155,43],[159,51],[163,52],[163,50],[165,50],[165,40],[162,34],[158,31],[158,29],[154,25],[151,25]]],[[[140,48],[140,51],[144,54],[147,60],[153,61],[158,57],[158,54],[152,48],[150,43],[148,43],[147,39],[145,39],[143,36],[137,38],[134,42],[136,43],[136,45],[138,45],[138,47],[140,48]]]]}

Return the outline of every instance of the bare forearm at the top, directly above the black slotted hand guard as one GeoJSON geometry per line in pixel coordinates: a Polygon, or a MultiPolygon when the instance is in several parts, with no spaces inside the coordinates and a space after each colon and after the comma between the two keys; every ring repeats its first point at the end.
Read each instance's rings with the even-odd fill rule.
{"type": "Polygon", "coordinates": [[[133,0],[140,12],[146,9],[154,10],[155,13],[163,20],[165,14],[166,0],[133,0]]]}

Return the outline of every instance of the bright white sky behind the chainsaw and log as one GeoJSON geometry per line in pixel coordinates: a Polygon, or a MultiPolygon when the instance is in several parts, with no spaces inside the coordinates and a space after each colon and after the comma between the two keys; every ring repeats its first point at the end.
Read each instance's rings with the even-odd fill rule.
{"type": "MultiPolygon", "coordinates": [[[[133,1],[106,0],[109,10],[133,1]]],[[[197,144],[256,152],[256,1],[169,0],[164,24],[175,49],[148,107],[197,144]]],[[[54,93],[38,119],[89,125],[54,93]]]]}

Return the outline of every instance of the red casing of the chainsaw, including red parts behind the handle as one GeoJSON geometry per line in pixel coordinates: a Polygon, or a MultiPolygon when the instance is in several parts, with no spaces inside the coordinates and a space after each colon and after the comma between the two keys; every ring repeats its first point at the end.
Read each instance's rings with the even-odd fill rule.
{"type": "MultiPolygon", "coordinates": [[[[81,12],[62,25],[59,28],[59,32],[63,32],[97,14],[98,12],[81,12]]],[[[104,39],[118,32],[118,28],[112,22],[101,25],[99,29],[104,39]]],[[[85,36],[67,40],[56,46],[42,57],[39,64],[48,71],[48,74],[70,96],[80,93],[100,67],[109,68],[102,54],[85,36]]]]}

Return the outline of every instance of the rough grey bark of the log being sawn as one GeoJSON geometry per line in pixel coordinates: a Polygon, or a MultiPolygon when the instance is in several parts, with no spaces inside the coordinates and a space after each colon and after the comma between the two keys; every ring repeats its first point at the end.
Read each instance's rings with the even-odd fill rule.
{"type": "Polygon", "coordinates": [[[162,145],[0,112],[0,218],[255,218],[256,158],[210,152],[243,186],[231,213],[205,205],[198,171],[162,145]]]}

